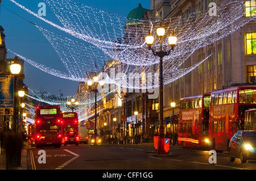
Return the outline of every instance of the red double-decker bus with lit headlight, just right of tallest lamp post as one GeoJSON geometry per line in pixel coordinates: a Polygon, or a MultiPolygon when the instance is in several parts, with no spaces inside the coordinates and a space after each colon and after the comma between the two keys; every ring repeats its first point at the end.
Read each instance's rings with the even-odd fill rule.
{"type": "Polygon", "coordinates": [[[180,99],[179,145],[208,147],[210,94],[180,99]]]}

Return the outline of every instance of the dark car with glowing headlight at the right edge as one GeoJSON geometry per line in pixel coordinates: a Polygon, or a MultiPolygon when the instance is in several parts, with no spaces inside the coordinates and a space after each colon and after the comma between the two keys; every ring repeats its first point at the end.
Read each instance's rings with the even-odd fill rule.
{"type": "Polygon", "coordinates": [[[256,131],[238,131],[229,142],[229,160],[240,158],[242,163],[256,159],[256,131]]]}

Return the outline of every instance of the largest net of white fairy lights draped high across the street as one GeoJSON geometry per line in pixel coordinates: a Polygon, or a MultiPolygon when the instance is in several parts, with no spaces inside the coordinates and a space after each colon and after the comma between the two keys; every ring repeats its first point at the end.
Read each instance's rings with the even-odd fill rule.
{"type": "MultiPolygon", "coordinates": [[[[171,52],[170,56],[164,58],[163,82],[167,84],[200,65],[195,64],[188,68],[183,67],[184,62],[188,60],[195,50],[230,35],[230,33],[233,33],[255,18],[254,16],[241,18],[246,13],[243,9],[243,1],[231,1],[225,5],[218,6],[216,16],[209,16],[208,11],[205,11],[196,18],[196,14],[192,13],[185,20],[185,24],[183,23],[184,18],[179,16],[156,22],[142,20],[139,26],[129,27],[129,25],[126,25],[126,28],[123,28],[126,24],[126,18],[123,16],[93,9],[75,1],[46,0],[48,6],[51,7],[63,24],[63,28],[38,16],[19,3],[13,0],[10,1],[59,30],[86,41],[86,44],[84,42],[80,43],[79,41],[68,39],[36,26],[46,36],[52,47],[55,48],[61,61],[67,68],[68,74],[46,67],[43,71],[61,78],[86,82],[88,81],[86,77],[90,78],[90,76],[86,76],[86,73],[89,72],[91,65],[85,64],[85,62],[95,61],[97,67],[102,67],[106,60],[114,59],[123,64],[123,69],[119,69],[119,71],[121,70],[126,75],[122,81],[124,82],[122,86],[126,86],[126,88],[131,88],[129,87],[129,82],[125,79],[129,73],[139,73],[139,78],[142,79],[142,71],[154,72],[158,69],[159,60],[148,50],[144,37],[147,35],[148,30],[151,30],[152,35],[156,36],[155,29],[159,24],[166,27],[167,34],[174,30],[178,38],[174,51],[171,52]],[[181,26],[181,24],[184,25],[181,26]]],[[[166,38],[163,39],[163,42],[167,42],[166,38]]],[[[163,49],[168,50],[168,46],[168,44],[164,43],[163,49]]],[[[159,48],[159,40],[156,39],[156,43],[152,48],[159,48]]],[[[207,58],[201,61],[201,63],[205,60],[207,58]]],[[[36,65],[36,62],[31,63],[42,70],[41,65],[36,65]]],[[[117,84],[120,79],[122,78],[113,79],[113,77],[108,77],[105,81],[108,80],[109,82],[106,83],[117,84]]],[[[132,88],[148,89],[153,87],[146,86],[132,88]]],[[[158,85],[155,84],[154,86],[157,87],[158,85]]]]}

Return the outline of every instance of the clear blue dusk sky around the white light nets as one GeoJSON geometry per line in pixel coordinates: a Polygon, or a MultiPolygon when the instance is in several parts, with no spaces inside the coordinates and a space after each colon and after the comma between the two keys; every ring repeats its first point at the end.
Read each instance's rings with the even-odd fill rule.
{"type": "MultiPolygon", "coordinates": [[[[16,0],[16,2],[37,13],[40,9],[38,4],[44,1],[16,0]]],[[[127,16],[131,10],[138,7],[139,3],[141,3],[142,7],[145,9],[150,9],[150,0],[76,0],[76,2],[80,2],[86,6],[94,7],[96,9],[104,10],[121,16],[127,16]]],[[[9,0],[2,1],[1,5],[0,25],[5,29],[4,33],[6,35],[6,48],[13,50],[13,52],[18,53],[32,61],[38,62],[56,70],[65,71],[65,67],[57,55],[55,49],[53,49],[52,45],[49,44],[48,40],[43,36],[42,32],[40,32],[33,24],[29,23],[27,20],[38,24],[39,26],[49,31],[61,33],[61,35],[64,36],[65,33],[60,32],[60,30],[57,30],[57,28],[44,23],[42,20],[29,14],[23,9],[20,9],[9,0]]],[[[43,18],[50,20],[59,26],[62,26],[62,24],[59,22],[55,14],[53,14],[52,10],[48,6],[46,7],[46,16],[43,16],[43,18]]],[[[7,53],[7,58],[14,58],[14,56],[15,55],[11,52],[7,53]]],[[[44,73],[43,71],[35,68],[27,62],[24,62],[24,74],[24,83],[28,87],[36,90],[47,91],[51,94],[59,95],[61,92],[64,96],[75,95],[79,85],[79,82],[69,81],[68,79],[63,79],[44,73]]]]}

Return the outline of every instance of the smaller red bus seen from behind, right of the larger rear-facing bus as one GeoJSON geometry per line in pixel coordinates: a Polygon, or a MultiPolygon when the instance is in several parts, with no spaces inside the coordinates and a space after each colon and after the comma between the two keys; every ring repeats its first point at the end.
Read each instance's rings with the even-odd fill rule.
{"type": "Polygon", "coordinates": [[[62,134],[65,134],[67,131],[73,131],[78,133],[78,117],[77,112],[64,112],[61,113],[63,121],[62,134]]]}

